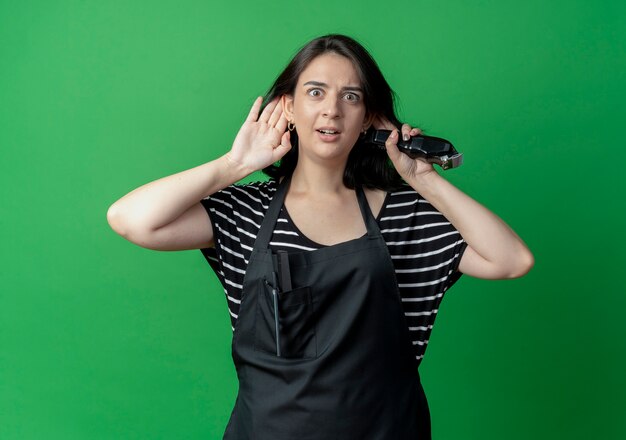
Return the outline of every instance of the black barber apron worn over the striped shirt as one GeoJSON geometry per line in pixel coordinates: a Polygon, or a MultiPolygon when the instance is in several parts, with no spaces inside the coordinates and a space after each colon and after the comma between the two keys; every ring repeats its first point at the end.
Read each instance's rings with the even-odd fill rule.
{"type": "Polygon", "coordinates": [[[363,190],[367,235],[290,252],[292,288],[282,291],[269,242],[288,185],[272,198],[244,277],[232,341],[239,392],[223,438],[430,439],[393,264],[363,190]]]}

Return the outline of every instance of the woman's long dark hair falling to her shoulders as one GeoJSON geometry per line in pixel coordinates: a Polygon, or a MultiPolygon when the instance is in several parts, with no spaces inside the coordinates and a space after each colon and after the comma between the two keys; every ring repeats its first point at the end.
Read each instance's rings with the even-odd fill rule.
{"type": "MultiPolygon", "coordinates": [[[[354,65],[365,95],[367,114],[383,116],[400,130],[402,124],[394,111],[395,93],[376,61],[361,44],[340,34],[324,35],[303,46],[266,93],[263,108],[276,97],[293,96],[300,74],[313,59],[329,52],[348,58],[354,65]]],[[[292,149],[277,164],[263,169],[265,174],[274,179],[291,176],[298,163],[298,135],[294,130],[290,136],[292,149]]],[[[389,191],[400,187],[403,180],[391,164],[387,152],[377,145],[364,142],[361,136],[348,155],[343,183],[348,188],[362,185],[389,191]]]]}

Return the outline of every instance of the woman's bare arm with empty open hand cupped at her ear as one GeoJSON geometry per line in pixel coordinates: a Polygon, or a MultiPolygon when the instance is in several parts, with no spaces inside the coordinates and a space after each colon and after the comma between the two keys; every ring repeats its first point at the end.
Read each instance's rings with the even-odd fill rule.
{"type": "Polygon", "coordinates": [[[261,103],[260,97],[254,101],[227,154],[147,183],[111,205],[107,212],[111,228],[149,249],[212,246],[213,229],[200,201],[276,162],[291,148],[280,102],[269,103],[259,116],[261,103]]]}

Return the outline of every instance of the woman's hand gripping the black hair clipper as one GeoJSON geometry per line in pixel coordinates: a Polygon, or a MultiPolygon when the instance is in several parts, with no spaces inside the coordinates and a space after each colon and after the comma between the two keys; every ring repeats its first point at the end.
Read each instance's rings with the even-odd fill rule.
{"type": "Polygon", "coordinates": [[[417,136],[422,133],[419,128],[412,128],[409,124],[402,124],[402,130],[398,132],[398,129],[388,120],[376,118],[372,124],[377,130],[391,130],[391,135],[385,142],[387,148],[387,154],[393,162],[396,170],[404,180],[407,182],[415,181],[418,178],[424,177],[429,173],[437,173],[432,164],[426,162],[423,159],[411,159],[408,155],[402,153],[398,147],[399,136],[402,136],[404,140],[409,140],[410,136],[417,136]]]}

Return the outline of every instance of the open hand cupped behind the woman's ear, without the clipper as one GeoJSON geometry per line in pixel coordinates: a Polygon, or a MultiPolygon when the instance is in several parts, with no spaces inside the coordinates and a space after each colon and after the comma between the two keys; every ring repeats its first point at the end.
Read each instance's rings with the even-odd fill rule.
{"type": "Polygon", "coordinates": [[[226,158],[231,165],[245,171],[246,175],[261,170],[278,161],[290,149],[287,117],[280,98],[267,104],[259,116],[263,98],[258,97],[243,123],[226,158]]]}

